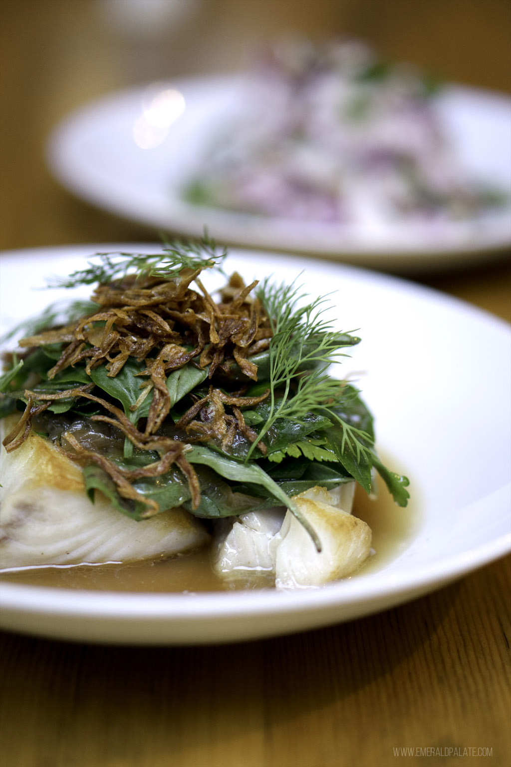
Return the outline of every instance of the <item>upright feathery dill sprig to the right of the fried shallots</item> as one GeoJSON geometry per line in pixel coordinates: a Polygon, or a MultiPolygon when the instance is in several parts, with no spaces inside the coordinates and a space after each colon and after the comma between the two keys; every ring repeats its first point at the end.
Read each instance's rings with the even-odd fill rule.
{"type": "Polygon", "coordinates": [[[369,453],[372,437],[346,423],[336,412],[346,382],[330,377],[326,371],[339,357],[348,356],[342,347],[354,346],[360,339],[340,334],[332,327],[325,317],[332,308],[328,295],[306,303],[308,296],[300,291],[296,280],[279,285],[268,279],[258,291],[274,331],[269,349],[270,408],[247,459],[277,419],[300,422],[308,413],[320,413],[341,426],[342,452],[351,453],[359,461],[369,453]]]}

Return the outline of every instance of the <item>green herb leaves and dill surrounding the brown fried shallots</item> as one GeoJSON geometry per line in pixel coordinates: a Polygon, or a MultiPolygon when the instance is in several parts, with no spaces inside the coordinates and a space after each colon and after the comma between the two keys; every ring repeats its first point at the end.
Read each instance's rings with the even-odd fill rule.
{"type": "MultiPolygon", "coordinates": [[[[140,276],[162,280],[175,279],[184,268],[194,271],[216,268],[221,272],[224,255],[225,252],[219,253],[215,243],[205,235],[201,243],[167,242],[163,254],[97,254],[97,262],[90,262],[87,268],[74,272],[59,284],[73,287],[98,281],[108,283],[123,278],[133,269],[140,276]]],[[[133,285],[133,282],[128,284],[133,285]]],[[[214,364],[211,368],[201,369],[196,358],[172,370],[165,381],[171,410],[164,434],[174,434],[175,423],[191,404],[207,400],[211,387],[226,395],[221,400],[225,402],[225,413],[215,411],[215,418],[225,417],[224,426],[229,424],[231,428],[234,424],[237,429],[235,438],[224,439],[225,430],[223,433],[219,431],[207,444],[193,443],[192,439],[200,431],[190,431],[191,443],[185,447],[183,456],[194,466],[198,476],[201,487],[198,508],[192,508],[187,476],[175,465],[161,476],[137,479],[132,484],[146,500],[156,502],[160,511],[184,505],[204,518],[221,518],[283,505],[300,519],[320,549],[316,533],[300,516],[291,496],[316,485],[331,489],[353,479],[370,492],[376,470],[395,501],[406,505],[408,479],[391,472],[378,458],[372,414],[359,391],[352,384],[336,380],[329,374],[331,364],[346,356],[345,350],[358,344],[359,337],[336,330],[328,318],[328,297],[311,301],[296,281],[285,285],[274,284],[269,279],[262,282],[257,295],[270,318],[273,333],[269,347],[249,357],[257,365],[257,382],[247,380],[231,351],[225,354],[223,363],[216,369],[214,364]],[[208,380],[211,370],[214,373],[208,380]],[[239,406],[243,417],[234,405],[228,404],[231,396],[233,401],[239,397],[250,400],[267,390],[268,397],[258,405],[239,406]]],[[[32,322],[31,332],[44,329],[57,318],[62,324],[69,323],[77,308],[78,304],[70,304],[70,314],[64,317],[60,308],[49,308],[38,321],[32,322]]],[[[93,302],[81,303],[81,310],[86,314],[97,309],[98,304],[93,302]]],[[[58,394],[91,384],[93,393],[103,399],[106,397],[106,400],[116,400],[133,425],[143,430],[144,426],[139,426],[139,422],[149,416],[154,397],[152,381],[148,377],[149,357],[144,362],[129,357],[115,376],[109,374],[104,358],[102,364],[91,368],[90,375],[82,360],[48,380],[47,373],[62,351],[63,344],[47,344],[29,352],[22,361],[13,357],[10,369],[0,377],[0,392],[4,392],[0,397],[0,417],[21,407],[22,403],[28,403],[25,388],[34,391],[37,398],[38,393],[41,396],[58,394]]],[[[204,423],[213,417],[213,410],[208,407],[195,413],[197,420],[204,423]]],[[[224,406],[221,405],[220,410],[221,407],[224,406]]],[[[101,402],[84,397],[57,398],[51,401],[47,410],[54,414],[65,413],[61,423],[68,426],[70,423],[72,426],[73,419],[80,421],[84,416],[104,414],[101,402]]],[[[51,429],[55,432],[54,423],[59,420],[51,418],[51,429]]],[[[41,428],[44,430],[44,423],[41,428]]],[[[123,459],[120,459],[122,437],[120,439],[120,443],[113,440],[118,452],[110,459],[123,469],[146,466],[162,458],[158,453],[139,451],[126,436],[123,459]]],[[[181,439],[187,441],[185,433],[181,439]]],[[[102,492],[123,514],[133,519],[146,517],[147,505],[123,498],[113,479],[96,464],[85,466],[84,477],[91,499],[95,492],[102,492]]]]}

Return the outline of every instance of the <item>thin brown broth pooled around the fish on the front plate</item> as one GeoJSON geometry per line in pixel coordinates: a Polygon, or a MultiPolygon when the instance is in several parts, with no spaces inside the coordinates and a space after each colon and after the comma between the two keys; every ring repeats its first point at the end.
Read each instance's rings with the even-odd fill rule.
{"type": "MultiPolygon", "coordinates": [[[[416,506],[408,503],[405,509],[401,509],[395,505],[379,479],[377,499],[370,499],[357,487],[353,513],[367,522],[372,529],[372,548],[375,554],[369,557],[352,577],[385,566],[408,545],[418,528],[416,506]]],[[[270,588],[273,585],[273,581],[265,576],[227,582],[222,580],[211,568],[208,548],[172,559],[162,558],[125,565],[26,568],[3,573],[0,582],[87,591],[152,593],[231,591],[270,588]]]]}

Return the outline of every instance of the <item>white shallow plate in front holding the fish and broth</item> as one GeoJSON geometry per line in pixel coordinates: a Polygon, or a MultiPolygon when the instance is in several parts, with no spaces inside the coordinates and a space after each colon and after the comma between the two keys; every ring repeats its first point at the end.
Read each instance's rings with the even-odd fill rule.
{"type": "MultiPolygon", "coordinates": [[[[116,246],[2,255],[2,329],[62,293],[29,288],[105,249],[116,246]]],[[[141,245],[122,249],[143,252],[141,245]]],[[[130,644],[255,639],[385,610],[509,551],[508,325],[437,292],[348,266],[236,252],[228,268],[279,280],[305,270],[310,294],[337,291],[339,328],[360,328],[362,336],[343,374],[367,371],[360,387],[376,415],[378,443],[411,479],[420,523],[408,546],[379,571],[293,593],[110,594],[3,583],[3,627],[130,644]]]]}

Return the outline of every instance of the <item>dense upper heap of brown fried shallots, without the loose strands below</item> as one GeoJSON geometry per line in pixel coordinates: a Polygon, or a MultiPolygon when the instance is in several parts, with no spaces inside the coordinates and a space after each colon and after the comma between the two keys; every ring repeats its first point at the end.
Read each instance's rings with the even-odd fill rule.
{"type": "MultiPolygon", "coordinates": [[[[257,281],[245,286],[240,275],[232,275],[221,291],[221,302],[216,303],[198,279],[200,272],[185,268],[179,278],[168,281],[128,276],[99,285],[92,300],[100,311],[74,326],[22,338],[20,346],[67,344],[48,371],[49,379],[82,360],[87,373],[104,364],[110,377],[120,373],[129,357],[146,360],[146,374],[164,400],[166,375],[195,357],[199,367],[209,366],[210,378],[234,359],[247,377],[257,380],[257,366],[247,357],[267,348],[272,335],[259,299],[251,297],[257,281]],[[194,279],[201,293],[189,287],[194,279]]],[[[159,406],[155,413],[150,428],[161,423],[159,406]]]]}

